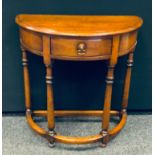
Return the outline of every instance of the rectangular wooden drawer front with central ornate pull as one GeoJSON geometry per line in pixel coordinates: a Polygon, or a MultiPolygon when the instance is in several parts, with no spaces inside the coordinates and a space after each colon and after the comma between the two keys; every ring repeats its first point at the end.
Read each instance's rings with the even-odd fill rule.
{"type": "Polygon", "coordinates": [[[94,57],[110,55],[111,39],[51,38],[54,57],[94,57]]]}

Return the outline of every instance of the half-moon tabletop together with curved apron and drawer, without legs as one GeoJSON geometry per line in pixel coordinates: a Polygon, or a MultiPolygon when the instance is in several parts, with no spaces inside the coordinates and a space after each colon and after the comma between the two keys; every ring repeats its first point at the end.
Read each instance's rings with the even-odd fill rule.
{"type": "Polygon", "coordinates": [[[129,53],[143,22],[137,16],[18,15],[16,23],[27,51],[43,56],[43,38],[47,36],[49,57],[85,61],[109,59],[116,34],[120,37],[118,56],[129,53]]]}

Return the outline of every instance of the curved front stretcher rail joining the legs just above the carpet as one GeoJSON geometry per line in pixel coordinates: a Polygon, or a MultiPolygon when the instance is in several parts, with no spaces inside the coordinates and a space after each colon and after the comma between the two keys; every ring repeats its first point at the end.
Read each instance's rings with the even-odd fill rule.
{"type": "MultiPolygon", "coordinates": [[[[39,116],[42,115],[41,112],[38,112],[38,114],[39,114],[39,116]]],[[[27,113],[26,114],[26,118],[27,118],[29,126],[35,132],[37,132],[38,134],[40,134],[41,136],[43,136],[45,138],[51,138],[47,131],[45,131],[43,128],[39,127],[34,122],[34,120],[32,119],[31,113],[27,113]]],[[[109,135],[108,138],[109,139],[113,138],[114,136],[116,136],[121,131],[121,129],[125,126],[125,123],[126,123],[126,120],[127,120],[127,114],[126,113],[122,113],[121,114],[121,118],[122,119],[119,122],[119,124],[117,126],[115,126],[113,129],[110,129],[108,131],[108,135],[109,135]]],[[[54,135],[54,139],[57,142],[62,142],[62,143],[65,143],[65,144],[87,144],[87,143],[96,142],[98,140],[101,140],[102,138],[103,138],[103,136],[101,134],[97,134],[97,135],[93,135],[93,136],[86,136],[86,137],[69,137],[69,136],[62,136],[62,135],[60,135],[58,133],[54,135]]]]}

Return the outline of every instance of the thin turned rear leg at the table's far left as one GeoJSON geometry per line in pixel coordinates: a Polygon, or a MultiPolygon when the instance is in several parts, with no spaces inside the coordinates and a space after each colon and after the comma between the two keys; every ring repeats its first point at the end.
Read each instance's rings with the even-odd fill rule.
{"type": "Polygon", "coordinates": [[[23,74],[24,74],[24,92],[25,92],[25,106],[26,112],[31,112],[31,95],[30,95],[30,80],[29,80],[29,70],[28,70],[28,60],[27,54],[23,47],[22,50],[22,64],[23,64],[23,74]]]}

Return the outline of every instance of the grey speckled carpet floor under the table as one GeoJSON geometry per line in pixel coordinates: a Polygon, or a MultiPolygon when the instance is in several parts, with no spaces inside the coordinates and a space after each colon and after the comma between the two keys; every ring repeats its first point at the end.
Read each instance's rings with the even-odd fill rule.
{"type": "MultiPolygon", "coordinates": [[[[35,118],[46,128],[46,120],[35,118]]],[[[110,127],[116,124],[113,119],[110,127]]],[[[99,118],[57,118],[56,131],[63,135],[85,136],[99,133],[99,118]]],[[[100,143],[87,145],[67,145],[56,143],[49,148],[47,141],[34,133],[27,125],[24,116],[3,116],[2,118],[3,155],[151,155],[152,116],[129,115],[124,129],[106,148],[100,143]]]]}

